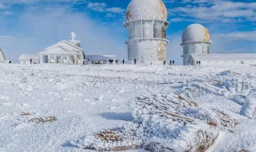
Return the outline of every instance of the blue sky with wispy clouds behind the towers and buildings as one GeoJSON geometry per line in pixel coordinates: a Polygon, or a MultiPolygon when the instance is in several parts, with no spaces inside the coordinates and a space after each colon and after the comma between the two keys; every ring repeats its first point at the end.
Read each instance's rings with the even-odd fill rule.
{"type": "MultiPolygon", "coordinates": [[[[150,1],[150,0],[148,0],[150,1]]],[[[0,47],[14,62],[68,40],[70,32],[86,54],[127,59],[123,26],[130,0],[0,0],[0,47]]],[[[181,64],[181,33],[193,23],[206,26],[210,53],[256,52],[256,3],[230,0],[165,0],[168,11],[167,60],[181,64]]]]}

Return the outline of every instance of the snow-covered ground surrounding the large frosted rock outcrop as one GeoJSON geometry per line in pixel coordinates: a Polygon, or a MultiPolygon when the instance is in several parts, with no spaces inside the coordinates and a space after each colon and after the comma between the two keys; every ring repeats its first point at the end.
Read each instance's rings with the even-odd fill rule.
{"type": "Polygon", "coordinates": [[[209,152],[253,152],[255,74],[256,67],[0,64],[0,151],[95,151],[75,142],[132,123],[131,100],[178,93],[237,121],[218,131],[209,152]]]}

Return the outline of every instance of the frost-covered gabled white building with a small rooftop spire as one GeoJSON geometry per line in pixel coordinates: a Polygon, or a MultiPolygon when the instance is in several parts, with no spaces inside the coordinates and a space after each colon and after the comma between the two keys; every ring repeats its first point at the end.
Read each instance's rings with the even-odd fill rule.
{"type": "Polygon", "coordinates": [[[75,33],[71,33],[71,40],[60,41],[45,48],[40,55],[41,64],[83,64],[85,53],[80,48],[80,41],[75,40],[75,33]]]}

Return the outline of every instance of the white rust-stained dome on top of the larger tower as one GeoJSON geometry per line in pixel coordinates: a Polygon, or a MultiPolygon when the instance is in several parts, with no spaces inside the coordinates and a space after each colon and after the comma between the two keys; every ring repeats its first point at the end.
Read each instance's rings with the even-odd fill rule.
{"type": "Polygon", "coordinates": [[[132,0],[127,7],[126,19],[157,18],[167,20],[166,6],[161,0],[132,0]]]}

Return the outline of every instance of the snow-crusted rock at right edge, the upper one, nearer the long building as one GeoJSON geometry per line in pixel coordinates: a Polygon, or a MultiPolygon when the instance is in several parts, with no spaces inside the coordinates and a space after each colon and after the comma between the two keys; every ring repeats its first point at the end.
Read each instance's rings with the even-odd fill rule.
{"type": "Polygon", "coordinates": [[[243,92],[255,87],[255,79],[227,79],[225,88],[231,92],[243,92]]]}

